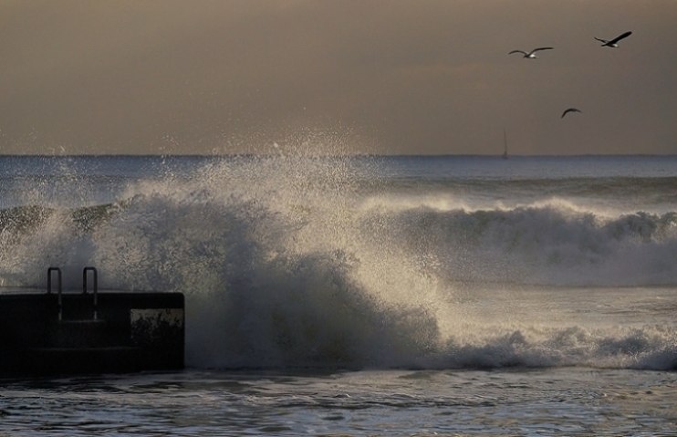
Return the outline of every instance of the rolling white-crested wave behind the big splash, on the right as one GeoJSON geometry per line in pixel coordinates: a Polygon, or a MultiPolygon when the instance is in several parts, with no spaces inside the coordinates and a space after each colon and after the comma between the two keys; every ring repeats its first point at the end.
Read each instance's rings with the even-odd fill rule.
{"type": "Polygon", "coordinates": [[[677,282],[675,212],[609,218],[558,203],[478,211],[418,207],[376,213],[362,226],[372,239],[387,234],[407,247],[422,268],[434,259],[434,271],[455,281],[550,286],[677,282]]]}

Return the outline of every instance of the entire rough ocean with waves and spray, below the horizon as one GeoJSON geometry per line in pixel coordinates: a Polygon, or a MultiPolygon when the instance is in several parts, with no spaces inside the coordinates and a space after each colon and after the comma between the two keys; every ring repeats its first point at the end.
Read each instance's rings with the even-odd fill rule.
{"type": "Polygon", "coordinates": [[[3,156],[0,287],[182,292],[186,369],[0,435],[674,435],[677,156],[3,156]]]}

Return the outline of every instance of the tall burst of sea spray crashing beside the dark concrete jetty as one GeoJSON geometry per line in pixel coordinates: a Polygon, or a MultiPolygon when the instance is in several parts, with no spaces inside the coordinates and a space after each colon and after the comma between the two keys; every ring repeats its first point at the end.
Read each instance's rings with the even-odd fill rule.
{"type": "MultiPolygon", "coordinates": [[[[402,285],[360,280],[389,272],[363,273],[373,263],[359,258],[346,162],[244,157],[130,186],[129,201],[92,233],[92,262],[106,265],[109,286],[186,294],[189,365],[410,362],[433,348],[436,322],[405,300],[384,303],[402,285]]],[[[383,262],[392,256],[373,258],[390,265],[391,280],[415,282],[383,262]]]]}

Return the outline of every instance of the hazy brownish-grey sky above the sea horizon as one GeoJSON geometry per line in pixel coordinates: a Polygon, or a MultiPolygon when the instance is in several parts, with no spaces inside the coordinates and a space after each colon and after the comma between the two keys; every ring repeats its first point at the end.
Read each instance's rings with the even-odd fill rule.
{"type": "Polygon", "coordinates": [[[674,154],[676,23],[677,0],[0,0],[0,154],[500,154],[504,129],[511,154],[674,154]]]}

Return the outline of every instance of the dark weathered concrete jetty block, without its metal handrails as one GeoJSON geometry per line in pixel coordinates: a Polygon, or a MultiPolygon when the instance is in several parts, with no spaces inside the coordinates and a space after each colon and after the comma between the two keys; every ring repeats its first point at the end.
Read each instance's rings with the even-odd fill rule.
{"type": "Polygon", "coordinates": [[[181,293],[0,293],[0,374],[182,369],[181,293]]]}

